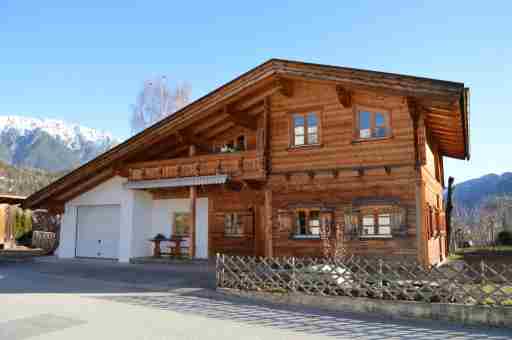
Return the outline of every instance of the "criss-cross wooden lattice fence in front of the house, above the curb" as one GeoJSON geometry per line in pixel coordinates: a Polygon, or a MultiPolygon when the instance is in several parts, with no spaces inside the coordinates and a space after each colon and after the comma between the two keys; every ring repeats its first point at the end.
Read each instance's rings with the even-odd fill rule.
{"type": "Polygon", "coordinates": [[[217,287],[512,308],[512,264],[217,255],[217,287]]]}

